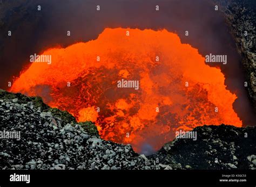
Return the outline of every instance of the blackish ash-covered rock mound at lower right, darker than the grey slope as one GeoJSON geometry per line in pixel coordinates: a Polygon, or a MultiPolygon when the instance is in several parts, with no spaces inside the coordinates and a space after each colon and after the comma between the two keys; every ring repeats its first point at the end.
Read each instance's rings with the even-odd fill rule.
{"type": "Polygon", "coordinates": [[[197,140],[175,139],[150,158],[186,169],[256,169],[256,128],[202,126],[197,140]]]}

